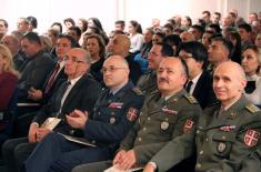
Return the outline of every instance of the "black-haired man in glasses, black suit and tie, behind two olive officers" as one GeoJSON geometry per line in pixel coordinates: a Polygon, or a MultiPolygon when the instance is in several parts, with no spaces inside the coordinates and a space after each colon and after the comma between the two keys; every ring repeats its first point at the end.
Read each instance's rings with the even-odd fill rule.
{"type": "Polygon", "coordinates": [[[181,44],[179,57],[185,61],[189,68],[185,90],[198,100],[202,109],[217,102],[212,77],[203,70],[208,59],[208,52],[203,44],[198,41],[185,42],[181,44]]]}

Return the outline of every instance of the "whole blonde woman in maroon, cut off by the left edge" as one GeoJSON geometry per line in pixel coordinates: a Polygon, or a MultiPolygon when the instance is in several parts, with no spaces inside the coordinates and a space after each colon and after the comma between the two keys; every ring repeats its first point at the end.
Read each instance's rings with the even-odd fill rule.
{"type": "Polygon", "coordinates": [[[19,72],[14,70],[12,54],[6,45],[0,44],[0,145],[10,134],[11,111],[14,109],[13,94],[19,72]]]}

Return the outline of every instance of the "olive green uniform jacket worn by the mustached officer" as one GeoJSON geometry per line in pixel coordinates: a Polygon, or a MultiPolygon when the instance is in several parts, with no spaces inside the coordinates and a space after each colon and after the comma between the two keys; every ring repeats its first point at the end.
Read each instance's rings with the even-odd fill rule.
{"type": "MultiPolygon", "coordinates": [[[[138,165],[148,163],[169,141],[194,131],[201,108],[192,95],[181,90],[165,102],[161,100],[159,92],[148,97],[140,118],[121,142],[120,150],[134,150],[138,165]]],[[[102,171],[104,163],[96,163],[99,170],[89,164],[73,172],[102,171]]]]}

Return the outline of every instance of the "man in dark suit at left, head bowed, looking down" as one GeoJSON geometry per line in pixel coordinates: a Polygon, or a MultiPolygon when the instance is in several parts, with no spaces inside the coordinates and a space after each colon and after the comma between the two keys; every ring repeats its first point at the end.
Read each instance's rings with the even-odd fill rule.
{"type": "Polygon", "coordinates": [[[18,102],[27,102],[29,89],[41,89],[54,64],[51,57],[41,50],[41,40],[37,33],[26,33],[21,39],[21,48],[28,60],[18,82],[18,102]]]}

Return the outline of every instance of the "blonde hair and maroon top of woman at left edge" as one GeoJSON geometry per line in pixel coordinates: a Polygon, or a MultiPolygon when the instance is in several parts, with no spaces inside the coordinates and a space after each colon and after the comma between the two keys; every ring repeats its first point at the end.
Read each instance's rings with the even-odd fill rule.
{"type": "Polygon", "coordinates": [[[0,111],[8,110],[18,78],[19,72],[14,70],[11,52],[0,44],[0,111]]]}

